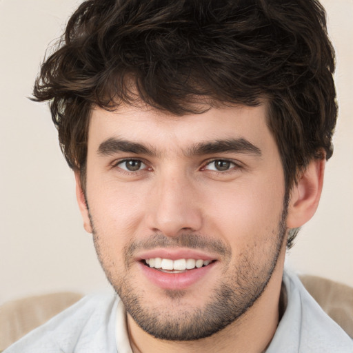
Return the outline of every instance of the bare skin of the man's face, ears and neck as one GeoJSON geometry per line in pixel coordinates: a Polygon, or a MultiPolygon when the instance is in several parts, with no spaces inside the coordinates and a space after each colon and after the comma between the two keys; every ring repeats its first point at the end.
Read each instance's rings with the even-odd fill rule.
{"type": "Polygon", "coordinates": [[[77,198],[105,274],[129,312],[133,351],[214,352],[216,346],[217,352],[263,352],[279,321],[287,232],[314,214],[323,165],[308,165],[286,210],[283,168],[265,104],[184,117],[148,107],[92,110],[85,194],[77,173],[77,198]],[[127,152],[125,143],[125,151],[119,150],[122,140],[145,149],[134,145],[127,152]],[[197,149],[225,140],[254,148],[239,149],[238,143],[237,150],[197,149]],[[213,260],[212,268],[186,288],[175,283],[165,290],[142,270],[141,256],[150,249],[199,251],[213,260]],[[230,307],[236,309],[232,322],[213,334],[156,339],[157,331],[143,326],[152,318],[160,327],[189,325],[188,332],[195,319],[200,322],[196,314],[203,317],[217,305],[215,294],[223,288],[234,293],[230,307]],[[243,301],[241,288],[247,294],[243,301]]]}

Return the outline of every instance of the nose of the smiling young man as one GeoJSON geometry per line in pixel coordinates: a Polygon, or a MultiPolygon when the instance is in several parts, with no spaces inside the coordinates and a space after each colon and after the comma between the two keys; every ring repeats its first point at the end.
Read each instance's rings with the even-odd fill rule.
{"type": "Polygon", "coordinates": [[[203,219],[197,188],[187,176],[170,174],[154,181],[147,211],[150,230],[165,236],[199,231],[203,219]]]}

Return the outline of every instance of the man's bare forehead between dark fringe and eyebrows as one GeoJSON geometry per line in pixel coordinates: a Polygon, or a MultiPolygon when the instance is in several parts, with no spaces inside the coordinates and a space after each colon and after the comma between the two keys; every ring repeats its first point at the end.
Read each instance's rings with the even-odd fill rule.
{"type": "Polygon", "coordinates": [[[201,114],[181,117],[128,105],[121,105],[113,112],[94,108],[88,148],[97,149],[103,141],[112,138],[137,141],[161,150],[219,139],[246,139],[260,145],[274,143],[268,129],[266,103],[256,107],[211,108],[201,114]]]}

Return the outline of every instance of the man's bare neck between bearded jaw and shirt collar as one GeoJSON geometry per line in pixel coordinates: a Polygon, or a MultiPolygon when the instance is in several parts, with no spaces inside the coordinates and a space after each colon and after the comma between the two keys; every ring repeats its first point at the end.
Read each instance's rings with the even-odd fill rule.
{"type": "Polygon", "coordinates": [[[284,254],[261,297],[239,319],[220,332],[195,341],[164,341],[144,332],[128,314],[128,332],[134,353],[261,353],[270,344],[279,323],[284,254]]]}

